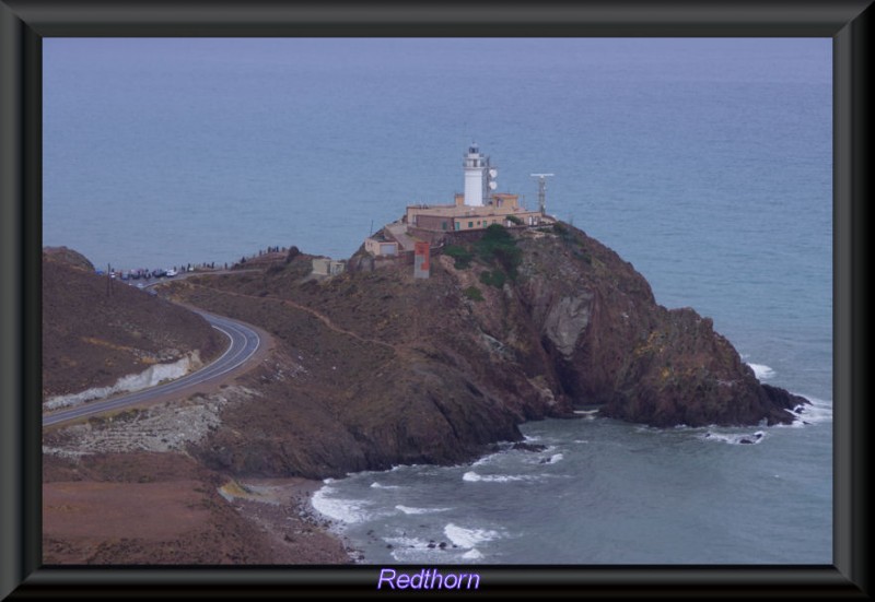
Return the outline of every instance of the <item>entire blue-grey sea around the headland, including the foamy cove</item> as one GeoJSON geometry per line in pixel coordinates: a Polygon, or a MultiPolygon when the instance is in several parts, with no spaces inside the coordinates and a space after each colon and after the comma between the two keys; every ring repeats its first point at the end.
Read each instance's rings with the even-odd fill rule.
{"type": "Polygon", "coordinates": [[[533,423],[545,452],[331,482],[317,505],[369,562],[831,562],[829,39],[51,38],[44,60],[45,245],[343,258],[450,202],[476,141],[500,191],[535,206],[555,173],[548,212],[815,401],[795,427],[533,423]]]}

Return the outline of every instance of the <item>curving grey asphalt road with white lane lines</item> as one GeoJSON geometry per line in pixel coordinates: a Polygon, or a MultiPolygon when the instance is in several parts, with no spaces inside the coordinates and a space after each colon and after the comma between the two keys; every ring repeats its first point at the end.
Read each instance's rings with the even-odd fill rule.
{"type": "Polygon", "coordinates": [[[43,426],[52,426],[62,422],[90,416],[92,414],[100,414],[109,410],[118,410],[136,403],[144,403],[152,401],[159,397],[176,393],[190,389],[191,387],[203,385],[206,382],[220,379],[231,370],[245,364],[258,347],[261,346],[264,341],[261,337],[244,324],[231,318],[224,318],[214,314],[209,314],[201,309],[189,307],[191,311],[200,314],[210,324],[222,332],[231,341],[228,350],[218,358],[205,366],[203,368],[194,371],[184,377],[177,378],[164,385],[158,385],[148,389],[126,393],[120,397],[112,399],[92,401],[67,410],[57,410],[49,414],[43,415],[43,426]]]}

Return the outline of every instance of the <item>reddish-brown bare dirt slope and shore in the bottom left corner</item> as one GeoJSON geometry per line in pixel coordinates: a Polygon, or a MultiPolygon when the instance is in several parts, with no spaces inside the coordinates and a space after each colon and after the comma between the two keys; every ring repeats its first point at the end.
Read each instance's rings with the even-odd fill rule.
{"type": "Polygon", "coordinates": [[[43,557],[52,564],[348,563],[295,499],[230,504],[226,479],[180,453],[44,459],[43,557]],[[235,508],[248,505],[249,520],[235,508]]]}

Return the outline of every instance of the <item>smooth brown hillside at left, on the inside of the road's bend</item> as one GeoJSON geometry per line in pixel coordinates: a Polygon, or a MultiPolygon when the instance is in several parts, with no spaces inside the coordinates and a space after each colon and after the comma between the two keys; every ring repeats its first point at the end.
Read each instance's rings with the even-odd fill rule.
{"type": "Polygon", "coordinates": [[[200,316],[109,282],[75,251],[44,250],[44,399],[109,386],[192,351],[206,362],[224,346],[224,337],[200,316]]]}

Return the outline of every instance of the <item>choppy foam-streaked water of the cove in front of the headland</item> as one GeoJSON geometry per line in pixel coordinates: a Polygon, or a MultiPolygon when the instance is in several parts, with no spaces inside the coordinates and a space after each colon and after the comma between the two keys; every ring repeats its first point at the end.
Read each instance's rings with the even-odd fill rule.
{"type": "Polygon", "coordinates": [[[829,440],[829,405],[815,401],[809,421],[528,423],[526,442],[541,452],[504,445],[472,463],[357,473],[326,481],[313,504],[370,564],[818,564],[831,538],[819,477],[831,455],[810,441],[829,440]],[[739,442],[758,430],[756,445],[739,442]]]}

